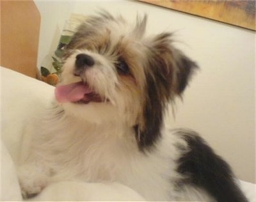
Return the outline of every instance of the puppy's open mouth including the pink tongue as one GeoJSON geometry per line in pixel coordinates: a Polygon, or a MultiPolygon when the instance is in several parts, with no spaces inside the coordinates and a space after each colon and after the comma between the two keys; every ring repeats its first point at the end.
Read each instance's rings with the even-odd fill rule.
{"type": "Polygon", "coordinates": [[[88,104],[89,102],[103,102],[99,94],[95,93],[84,82],[76,82],[67,85],[57,86],[55,88],[56,100],[60,103],[73,102],[88,104]]]}

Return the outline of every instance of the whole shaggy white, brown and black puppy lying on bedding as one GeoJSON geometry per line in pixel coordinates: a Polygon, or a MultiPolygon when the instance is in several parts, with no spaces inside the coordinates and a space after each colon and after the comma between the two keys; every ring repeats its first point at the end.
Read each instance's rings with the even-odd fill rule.
{"type": "Polygon", "coordinates": [[[24,196],[58,180],[119,182],[148,201],[245,202],[228,164],[195,132],[163,127],[196,63],[171,33],[145,35],[107,12],[81,24],[65,50],[56,102],[29,132],[24,196]]]}

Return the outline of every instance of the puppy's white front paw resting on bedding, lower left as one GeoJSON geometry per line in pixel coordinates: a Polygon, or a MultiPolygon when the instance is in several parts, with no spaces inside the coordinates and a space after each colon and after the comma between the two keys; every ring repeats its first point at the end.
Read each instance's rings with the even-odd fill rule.
{"type": "Polygon", "coordinates": [[[36,196],[49,181],[49,176],[42,167],[33,164],[21,166],[18,175],[23,198],[36,196]]]}

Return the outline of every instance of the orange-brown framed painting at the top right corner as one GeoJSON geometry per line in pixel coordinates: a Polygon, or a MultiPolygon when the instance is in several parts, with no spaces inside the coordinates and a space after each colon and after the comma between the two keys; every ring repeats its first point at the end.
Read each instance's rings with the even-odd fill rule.
{"type": "Polygon", "coordinates": [[[246,29],[255,29],[255,0],[139,0],[141,2],[163,6],[184,13],[190,13],[212,20],[218,20],[246,29]]]}

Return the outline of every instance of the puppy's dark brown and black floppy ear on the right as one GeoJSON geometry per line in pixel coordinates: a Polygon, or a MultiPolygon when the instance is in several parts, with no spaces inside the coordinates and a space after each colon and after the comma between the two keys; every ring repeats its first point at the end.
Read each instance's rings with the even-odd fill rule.
{"type": "Polygon", "coordinates": [[[152,146],[161,136],[163,114],[168,102],[181,97],[196,63],[172,46],[172,34],[162,33],[148,43],[145,69],[145,102],[143,116],[134,127],[139,148],[152,146]]]}

